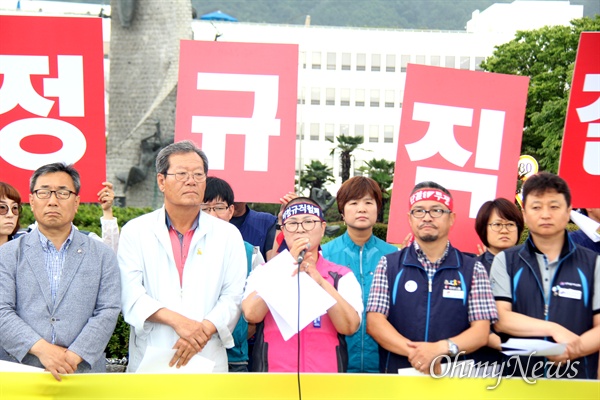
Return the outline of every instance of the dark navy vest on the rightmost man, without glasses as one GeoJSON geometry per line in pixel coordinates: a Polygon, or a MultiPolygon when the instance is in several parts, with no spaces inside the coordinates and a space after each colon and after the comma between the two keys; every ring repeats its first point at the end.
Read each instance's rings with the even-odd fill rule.
{"type": "MultiPolygon", "coordinates": [[[[565,233],[565,238],[568,237],[569,235],[565,233]]],[[[559,257],[556,272],[551,278],[551,293],[547,299],[544,298],[542,276],[531,237],[524,244],[504,251],[504,254],[506,270],[512,279],[512,299],[506,300],[512,302],[513,311],[529,317],[556,322],[577,335],[581,335],[593,327],[592,298],[594,296],[594,267],[596,257],[598,257],[596,253],[577,246],[568,239],[559,257]],[[559,296],[561,289],[580,291],[581,300],[559,296]]],[[[502,339],[504,342],[505,337],[502,339]]],[[[552,341],[552,338],[543,339],[552,341]]],[[[523,366],[527,365],[527,361],[527,357],[521,358],[523,366]]],[[[532,357],[529,360],[528,375],[531,374],[531,367],[538,361],[544,361],[544,358],[532,357]]],[[[569,377],[574,378],[572,371],[576,369],[577,379],[596,379],[597,352],[573,360],[571,363],[575,361],[579,361],[579,363],[569,366],[568,370],[561,368],[559,374],[561,372],[569,373],[569,377]]],[[[550,372],[555,374],[555,369],[553,368],[550,372]]],[[[518,371],[517,368],[516,372],[518,371]]]]}

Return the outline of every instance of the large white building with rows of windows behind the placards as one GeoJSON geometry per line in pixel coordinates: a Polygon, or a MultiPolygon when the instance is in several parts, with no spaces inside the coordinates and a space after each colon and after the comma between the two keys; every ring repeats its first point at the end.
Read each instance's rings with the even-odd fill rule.
{"type": "MultiPolygon", "coordinates": [[[[3,0],[0,13],[14,13],[16,4],[3,0]]],[[[45,15],[98,15],[101,9],[110,13],[110,7],[98,5],[28,0],[20,5],[23,13],[45,15]]],[[[330,188],[335,192],[339,160],[330,156],[335,145],[328,139],[340,134],[364,137],[362,150],[354,153],[354,173],[366,160],[396,159],[408,63],[477,70],[494,46],[511,40],[517,30],[568,25],[582,16],[583,6],[569,1],[517,0],[474,11],[465,31],[191,23],[195,40],[212,41],[219,34],[219,41],[299,45],[296,169],[311,160],[328,164],[338,180],[330,188]]],[[[110,24],[103,27],[108,52],[110,24]]]]}

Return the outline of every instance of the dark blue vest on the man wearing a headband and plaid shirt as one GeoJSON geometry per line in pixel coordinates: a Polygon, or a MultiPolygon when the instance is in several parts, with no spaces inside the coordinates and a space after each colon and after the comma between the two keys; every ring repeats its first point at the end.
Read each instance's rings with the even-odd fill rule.
{"type": "MultiPolygon", "coordinates": [[[[431,282],[417,259],[413,246],[388,254],[390,289],[388,321],[404,337],[418,342],[436,342],[467,330],[468,297],[475,259],[450,246],[446,259],[431,282]]],[[[397,373],[410,367],[408,358],[379,347],[379,367],[397,373]]]]}

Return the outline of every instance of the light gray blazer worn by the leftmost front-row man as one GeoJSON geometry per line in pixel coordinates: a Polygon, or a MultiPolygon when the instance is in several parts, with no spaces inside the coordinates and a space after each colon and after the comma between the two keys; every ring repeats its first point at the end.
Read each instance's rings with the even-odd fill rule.
{"type": "Polygon", "coordinates": [[[78,354],[77,372],[105,372],[104,349],[121,308],[115,253],[77,230],[52,303],[38,231],[0,247],[0,347],[23,364],[43,367],[29,354],[41,338],[78,354]]]}

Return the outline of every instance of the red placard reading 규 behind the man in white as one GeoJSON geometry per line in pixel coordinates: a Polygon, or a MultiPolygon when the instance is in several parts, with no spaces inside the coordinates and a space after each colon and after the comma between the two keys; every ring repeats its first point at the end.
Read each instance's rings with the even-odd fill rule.
{"type": "Polygon", "coordinates": [[[236,201],[293,190],[298,46],[182,41],[175,141],[190,139],[236,201]]]}

